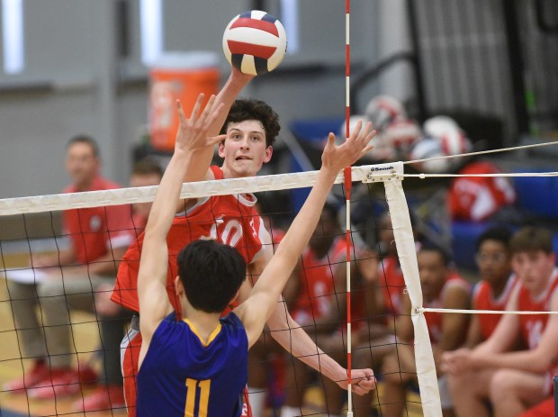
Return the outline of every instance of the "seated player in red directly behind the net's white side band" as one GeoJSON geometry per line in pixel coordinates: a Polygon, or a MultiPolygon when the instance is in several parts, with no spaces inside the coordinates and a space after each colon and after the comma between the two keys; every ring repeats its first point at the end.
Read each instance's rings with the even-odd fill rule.
{"type": "MultiPolygon", "coordinates": [[[[446,252],[425,244],[417,254],[420,285],[425,307],[466,309],[469,307],[470,286],[450,267],[446,252]]],[[[410,299],[403,298],[403,312],[410,312],[410,299]]],[[[428,333],[437,365],[438,387],[444,416],[453,415],[452,399],[447,389],[446,375],[438,367],[442,354],[463,346],[469,318],[466,314],[425,313],[428,333]]],[[[416,380],[417,368],[412,346],[410,315],[401,314],[397,322],[397,352],[383,361],[384,390],[381,398],[384,417],[401,417],[405,410],[408,384],[416,380]]],[[[474,414],[468,414],[470,416],[474,414]]]]}

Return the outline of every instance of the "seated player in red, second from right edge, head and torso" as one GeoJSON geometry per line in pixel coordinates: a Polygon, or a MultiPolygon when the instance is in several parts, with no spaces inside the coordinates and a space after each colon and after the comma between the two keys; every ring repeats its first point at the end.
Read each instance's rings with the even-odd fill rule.
{"type": "MultiPolygon", "coordinates": [[[[479,237],[476,261],[481,280],[473,288],[473,310],[506,308],[518,283],[517,276],[511,274],[510,238],[511,231],[503,227],[488,229],[479,237]]],[[[500,318],[500,314],[473,314],[465,346],[472,349],[487,340],[500,318]]]]}

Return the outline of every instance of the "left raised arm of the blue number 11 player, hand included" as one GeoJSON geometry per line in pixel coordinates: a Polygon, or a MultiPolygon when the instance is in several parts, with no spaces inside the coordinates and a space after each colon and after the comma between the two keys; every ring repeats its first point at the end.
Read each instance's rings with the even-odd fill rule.
{"type": "Polygon", "coordinates": [[[215,105],[215,96],[211,95],[208,104],[202,110],[202,101],[203,95],[199,95],[192,116],[184,121],[183,133],[176,137],[175,152],[158,187],[145,229],[138,278],[142,352],[147,351],[148,342],[158,324],[164,319],[169,304],[166,295],[166,234],[175,216],[175,204],[169,202],[178,200],[184,174],[188,167],[196,162],[197,153],[222,139],[220,136],[208,138],[211,123],[220,115],[222,104],[215,105]]]}

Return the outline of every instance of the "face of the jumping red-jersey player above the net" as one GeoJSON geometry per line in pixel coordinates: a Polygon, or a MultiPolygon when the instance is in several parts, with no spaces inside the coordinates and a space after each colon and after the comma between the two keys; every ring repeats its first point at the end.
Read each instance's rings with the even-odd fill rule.
{"type": "Polygon", "coordinates": [[[229,123],[227,139],[219,144],[219,156],[224,159],[223,174],[227,178],[253,177],[272,155],[266,145],[266,131],[261,122],[245,120],[229,123]]]}

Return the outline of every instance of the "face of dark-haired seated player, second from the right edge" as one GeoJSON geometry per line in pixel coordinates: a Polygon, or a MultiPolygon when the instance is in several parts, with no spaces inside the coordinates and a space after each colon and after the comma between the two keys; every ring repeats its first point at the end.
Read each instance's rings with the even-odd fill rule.
{"type": "Polygon", "coordinates": [[[484,240],[476,256],[481,279],[491,284],[505,282],[511,272],[509,252],[499,240],[484,240]]]}

